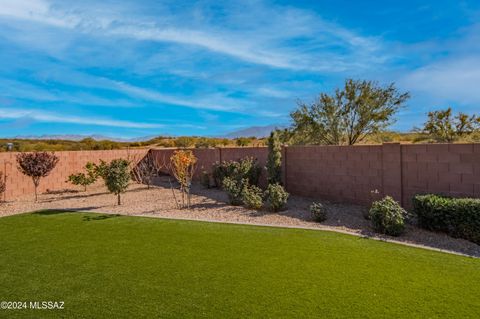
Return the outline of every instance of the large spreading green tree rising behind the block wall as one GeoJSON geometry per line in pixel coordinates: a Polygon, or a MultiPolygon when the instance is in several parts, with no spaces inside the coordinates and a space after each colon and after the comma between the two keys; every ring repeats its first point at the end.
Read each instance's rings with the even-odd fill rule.
{"type": "Polygon", "coordinates": [[[293,140],[299,144],[353,145],[391,125],[409,93],[392,83],[348,79],[343,89],[321,93],[311,105],[299,103],[290,116],[293,140]]]}

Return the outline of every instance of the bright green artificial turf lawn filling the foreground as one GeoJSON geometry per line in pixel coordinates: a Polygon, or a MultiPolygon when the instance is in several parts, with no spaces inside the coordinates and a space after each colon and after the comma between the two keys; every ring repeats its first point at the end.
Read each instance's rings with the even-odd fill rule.
{"type": "Polygon", "coordinates": [[[480,317],[480,260],[301,229],[91,213],[0,218],[0,317],[480,317]]]}

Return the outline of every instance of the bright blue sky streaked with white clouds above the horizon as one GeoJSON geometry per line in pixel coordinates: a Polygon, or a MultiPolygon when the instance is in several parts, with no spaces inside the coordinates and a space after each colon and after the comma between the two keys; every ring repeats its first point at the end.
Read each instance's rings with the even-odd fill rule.
{"type": "Polygon", "coordinates": [[[0,136],[286,124],[349,77],[411,92],[394,129],[478,112],[480,2],[0,0],[0,136]]]}

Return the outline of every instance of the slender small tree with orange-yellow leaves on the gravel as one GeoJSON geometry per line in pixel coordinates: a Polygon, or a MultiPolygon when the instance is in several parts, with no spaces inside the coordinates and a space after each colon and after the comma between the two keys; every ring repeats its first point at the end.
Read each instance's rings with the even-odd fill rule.
{"type": "Polygon", "coordinates": [[[190,187],[196,163],[197,158],[190,150],[175,151],[170,157],[172,174],[180,184],[182,207],[190,207],[190,187]]]}

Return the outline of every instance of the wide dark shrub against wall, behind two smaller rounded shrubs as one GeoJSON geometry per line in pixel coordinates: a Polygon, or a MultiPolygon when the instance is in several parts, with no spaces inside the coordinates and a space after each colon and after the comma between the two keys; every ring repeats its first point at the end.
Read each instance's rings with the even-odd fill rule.
{"type": "Polygon", "coordinates": [[[222,187],[225,177],[236,181],[247,179],[250,185],[258,186],[262,168],[253,157],[245,157],[239,161],[223,161],[213,165],[213,179],[218,187],[222,187]]]}

